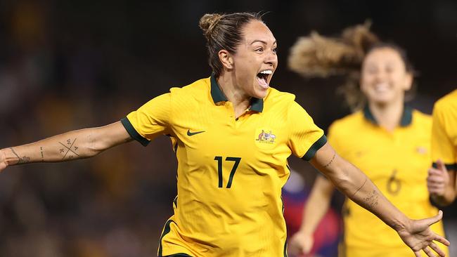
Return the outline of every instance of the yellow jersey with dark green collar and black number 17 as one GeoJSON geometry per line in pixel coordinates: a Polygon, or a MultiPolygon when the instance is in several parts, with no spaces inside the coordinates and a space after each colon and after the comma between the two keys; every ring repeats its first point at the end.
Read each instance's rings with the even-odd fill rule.
{"type": "Polygon", "coordinates": [[[287,159],[309,160],[326,143],[294,99],[269,88],[236,119],[210,77],[172,88],[122,119],[143,145],[164,134],[176,152],[178,196],[158,256],[286,256],[287,159]]]}

